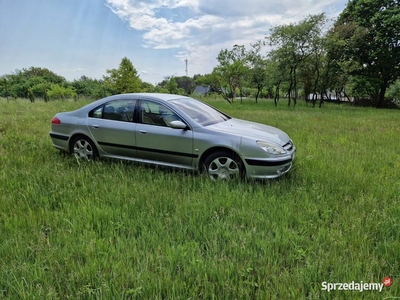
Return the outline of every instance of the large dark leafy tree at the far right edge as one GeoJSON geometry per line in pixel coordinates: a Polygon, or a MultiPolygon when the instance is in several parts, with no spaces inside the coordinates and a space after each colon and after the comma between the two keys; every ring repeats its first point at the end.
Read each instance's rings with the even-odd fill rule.
{"type": "Polygon", "coordinates": [[[351,0],[332,31],[340,41],[341,62],[362,82],[354,92],[369,93],[377,107],[383,106],[388,86],[400,78],[399,28],[398,0],[351,0]]]}

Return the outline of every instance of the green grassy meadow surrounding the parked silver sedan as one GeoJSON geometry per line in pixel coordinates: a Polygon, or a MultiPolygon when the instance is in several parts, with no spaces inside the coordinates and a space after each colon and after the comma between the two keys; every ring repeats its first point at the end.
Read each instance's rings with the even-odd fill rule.
{"type": "Polygon", "coordinates": [[[84,102],[0,100],[0,299],[400,297],[400,112],[208,101],[286,131],[293,169],[212,183],[79,162],[48,133],[84,102]]]}

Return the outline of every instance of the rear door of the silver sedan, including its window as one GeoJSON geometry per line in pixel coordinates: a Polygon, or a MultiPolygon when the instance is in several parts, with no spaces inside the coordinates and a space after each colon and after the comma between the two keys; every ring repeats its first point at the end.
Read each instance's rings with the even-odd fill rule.
{"type": "Polygon", "coordinates": [[[136,157],[136,99],[113,100],[89,113],[92,138],[106,155],[136,157]]]}

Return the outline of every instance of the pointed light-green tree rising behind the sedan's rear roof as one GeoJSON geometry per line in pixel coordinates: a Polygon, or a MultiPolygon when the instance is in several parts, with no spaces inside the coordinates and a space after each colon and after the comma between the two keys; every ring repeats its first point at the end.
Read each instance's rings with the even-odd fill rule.
{"type": "Polygon", "coordinates": [[[141,91],[141,80],[132,62],[124,57],[118,69],[106,70],[104,76],[106,86],[113,94],[135,93],[141,91]]]}

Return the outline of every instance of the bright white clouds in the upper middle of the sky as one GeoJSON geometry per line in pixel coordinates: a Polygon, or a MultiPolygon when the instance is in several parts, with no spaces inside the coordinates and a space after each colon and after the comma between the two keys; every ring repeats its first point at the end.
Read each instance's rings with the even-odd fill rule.
{"type": "Polygon", "coordinates": [[[345,1],[106,0],[106,5],[141,33],[143,47],[176,49],[176,58],[188,58],[193,72],[205,73],[216,65],[221,49],[248,46],[273,26],[298,22],[310,14],[335,16],[345,1]]]}

